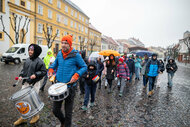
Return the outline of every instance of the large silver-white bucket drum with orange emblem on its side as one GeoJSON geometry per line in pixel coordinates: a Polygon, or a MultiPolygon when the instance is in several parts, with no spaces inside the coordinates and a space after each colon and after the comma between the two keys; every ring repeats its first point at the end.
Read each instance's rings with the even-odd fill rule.
{"type": "Polygon", "coordinates": [[[10,100],[13,101],[23,119],[36,115],[44,107],[44,103],[40,101],[38,94],[31,86],[14,93],[10,100]]]}

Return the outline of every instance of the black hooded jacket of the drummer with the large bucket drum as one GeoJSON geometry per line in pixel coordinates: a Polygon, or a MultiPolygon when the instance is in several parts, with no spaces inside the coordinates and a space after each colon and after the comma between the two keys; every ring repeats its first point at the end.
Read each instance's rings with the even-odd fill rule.
{"type": "Polygon", "coordinates": [[[36,44],[31,44],[29,45],[29,47],[30,46],[34,47],[34,53],[31,57],[26,59],[23,69],[21,70],[19,76],[30,77],[34,74],[36,76],[35,79],[29,78],[27,80],[23,80],[23,84],[27,82],[29,84],[34,85],[36,82],[40,81],[46,75],[46,68],[44,62],[38,57],[42,52],[41,47],[36,44]]]}

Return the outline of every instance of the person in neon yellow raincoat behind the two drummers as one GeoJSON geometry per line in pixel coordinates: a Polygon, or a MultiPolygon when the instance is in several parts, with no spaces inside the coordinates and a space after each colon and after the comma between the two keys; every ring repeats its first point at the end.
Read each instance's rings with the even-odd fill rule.
{"type": "MultiPolygon", "coordinates": [[[[44,58],[44,63],[45,63],[45,66],[46,66],[47,70],[48,70],[49,65],[50,65],[50,59],[55,59],[55,57],[53,56],[53,52],[51,51],[51,49],[48,49],[47,55],[44,58]]],[[[44,77],[43,84],[42,84],[42,86],[40,88],[41,91],[44,91],[44,87],[45,87],[45,85],[47,83],[47,79],[48,79],[48,75],[46,74],[46,76],[44,77]]]]}

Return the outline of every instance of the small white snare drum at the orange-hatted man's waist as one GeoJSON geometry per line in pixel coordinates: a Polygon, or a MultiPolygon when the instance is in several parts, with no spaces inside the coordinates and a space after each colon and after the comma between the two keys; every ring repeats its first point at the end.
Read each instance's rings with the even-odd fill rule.
{"type": "Polygon", "coordinates": [[[48,94],[52,101],[61,101],[68,97],[69,90],[66,83],[56,83],[49,87],[48,94]]]}

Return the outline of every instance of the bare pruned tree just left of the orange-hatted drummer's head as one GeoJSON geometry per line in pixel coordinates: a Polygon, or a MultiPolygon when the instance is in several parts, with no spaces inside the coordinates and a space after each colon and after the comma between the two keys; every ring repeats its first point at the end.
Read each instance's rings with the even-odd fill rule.
{"type": "Polygon", "coordinates": [[[48,26],[48,23],[46,26],[43,24],[43,32],[47,41],[47,46],[48,48],[51,48],[55,38],[58,35],[58,32],[56,31],[55,35],[53,35],[53,28],[52,26],[48,26]]]}

